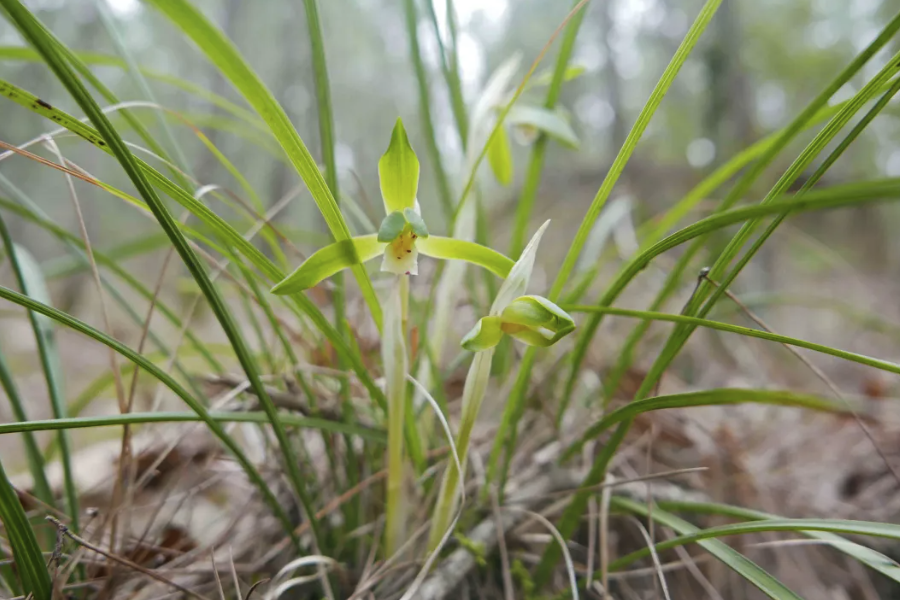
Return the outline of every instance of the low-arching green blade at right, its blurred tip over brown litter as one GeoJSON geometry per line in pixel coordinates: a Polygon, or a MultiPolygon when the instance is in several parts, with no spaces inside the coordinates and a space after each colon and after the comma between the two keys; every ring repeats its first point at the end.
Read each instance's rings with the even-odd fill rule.
{"type": "Polygon", "coordinates": [[[584,444],[596,438],[613,425],[632,419],[645,412],[694,406],[723,406],[748,403],[807,408],[823,412],[847,412],[847,407],[844,404],[817,396],[797,394],[785,390],[717,389],[674,394],[672,396],[655,396],[629,402],[604,415],[602,419],[591,425],[577,442],[566,449],[562,460],[567,460],[577,454],[584,447],[584,444]]]}

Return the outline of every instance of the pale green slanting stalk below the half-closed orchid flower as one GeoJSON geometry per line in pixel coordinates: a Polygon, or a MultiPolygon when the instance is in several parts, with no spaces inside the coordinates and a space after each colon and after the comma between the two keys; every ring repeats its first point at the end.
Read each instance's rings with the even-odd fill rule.
{"type": "Polygon", "coordinates": [[[478,420],[478,413],[481,411],[481,403],[484,400],[488,381],[491,378],[491,362],[493,358],[493,348],[484,352],[476,352],[475,358],[472,360],[472,366],[469,367],[469,373],[466,375],[466,384],[463,388],[462,420],[460,421],[459,433],[456,437],[456,451],[459,455],[462,473],[460,473],[454,463],[450,463],[444,472],[444,479],[441,481],[441,489],[438,492],[437,505],[431,518],[431,533],[428,536],[429,552],[433,551],[441,543],[456,512],[458,501],[456,492],[459,488],[460,478],[465,477],[469,440],[471,439],[475,422],[478,420]]]}

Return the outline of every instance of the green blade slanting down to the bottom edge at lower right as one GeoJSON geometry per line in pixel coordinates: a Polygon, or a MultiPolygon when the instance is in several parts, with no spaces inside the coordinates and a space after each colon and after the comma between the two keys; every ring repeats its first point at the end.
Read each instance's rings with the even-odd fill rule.
{"type": "MultiPolygon", "coordinates": [[[[653,511],[651,512],[645,505],[639,504],[632,500],[628,500],[626,498],[613,497],[610,501],[610,506],[615,507],[619,510],[625,510],[633,514],[640,515],[642,517],[653,519],[660,525],[670,527],[677,533],[683,535],[697,534],[698,532],[700,532],[697,527],[691,525],[683,519],[676,517],[673,514],[667,513],[663,510],[659,510],[656,507],[654,507],[653,511]]],[[[714,538],[716,536],[710,537],[714,538]]],[[[697,543],[701,548],[715,556],[723,564],[725,564],[730,569],[738,573],[741,577],[746,579],[748,582],[759,588],[769,598],[773,598],[774,600],[802,600],[800,596],[788,589],[783,583],[778,581],[778,579],[764,571],[759,565],[751,561],[749,558],[745,557],[737,550],[728,546],[724,542],[716,539],[698,538],[697,543]]],[[[661,546],[662,544],[657,544],[657,550],[661,549],[661,546]]],[[[647,551],[647,554],[649,554],[649,550],[647,551]]],[[[624,563],[621,559],[615,560],[610,563],[609,570],[618,570],[625,564],[628,563],[624,563]]]]}

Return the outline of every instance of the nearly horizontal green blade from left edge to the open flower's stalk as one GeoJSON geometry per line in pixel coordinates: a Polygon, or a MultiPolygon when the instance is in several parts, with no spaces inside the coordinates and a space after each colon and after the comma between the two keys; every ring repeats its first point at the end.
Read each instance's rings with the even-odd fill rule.
{"type": "MultiPolygon", "coordinates": [[[[209,411],[205,414],[217,423],[259,423],[267,424],[268,416],[264,412],[232,412],[209,411]]],[[[384,431],[372,429],[354,423],[343,423],[302,417],[296,414],[283,413],[282,422],[290,427],[300,429],[320,429],[331,433],[347,434],[369,442],[384,444],[387,441],[384,431]]],[[[0,435],[26,433],[34,431],[58,431],[67,429],[87,429],[92,427],[113,427],[119,425],[149,425],[151,423],[194,423],[205,421],[204,415],[194,412],[162,411],[135,412],[120,415],[70,417],[65,419],[48,419],[25,421],[19,423],[0,423],[0,435]]]]}

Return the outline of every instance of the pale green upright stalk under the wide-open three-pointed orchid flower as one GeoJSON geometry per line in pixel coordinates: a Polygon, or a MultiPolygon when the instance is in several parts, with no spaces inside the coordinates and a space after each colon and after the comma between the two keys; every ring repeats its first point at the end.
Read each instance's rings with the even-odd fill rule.
{"type": "Polygon", "coordinates": [[[393,556],[403,543],[406,498],[404,497],[403,423],[406,410],[406,340],[404,339],[404,292],[409,293],[406,275],[397,277],[385,303],[381,357],[388,400],[388,475],[385,525],[385,556],[393,556]]]}

